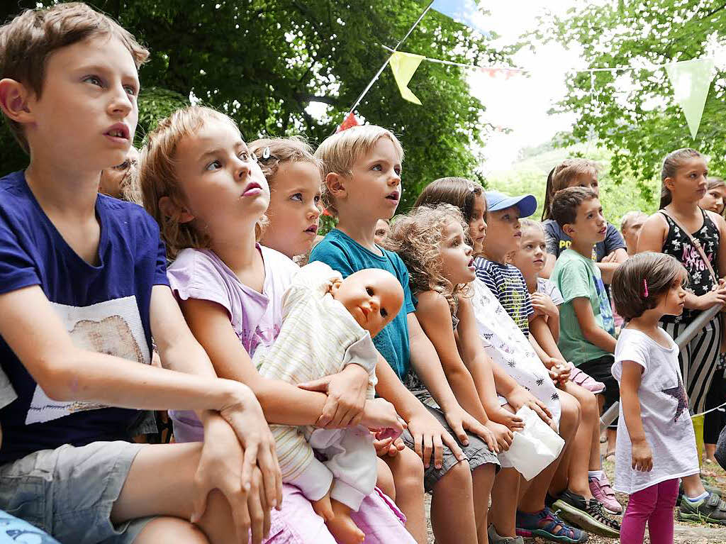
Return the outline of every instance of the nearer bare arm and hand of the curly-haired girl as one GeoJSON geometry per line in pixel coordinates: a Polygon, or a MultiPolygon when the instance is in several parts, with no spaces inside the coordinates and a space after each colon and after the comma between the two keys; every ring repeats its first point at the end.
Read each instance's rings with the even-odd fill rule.
{"type": "MultiPolygon", "coordinates": [[[[420,312],[419,315],[422,319],[420,321],[421,327],[429,340],[431,340],[434,349],[436,349],[436,354],[439,355],[441,367],[444,368],[444,375],[446,375],[446,379],[449,381],[449,386],[451,386],[457,402],[459,402],[464,410],[477,418],[478,421],[484,423],[484,426],[489,431],[492,431],[492,442],[490,443],[487,440],[490,449],[497,452],[499,447],[507,450],[513,439],[510,429],[499,425],[499,423],[494,423],[494,421],[489,421],[489,417],[483,406],[484,399],[486,399],[490,410],[493,410],[494,407],[499,409],[497,393],[494,391],[492,371],[489,369],[489,384],[491,388],[487,389],[486,384],[482,383],[482,389],[480,390],[480,386],[477,386],[474,382],[470,369],[459,356],[457,341],[454,338],[449,303],[446,302],[444,296],[434,291],[421,293],[418,297],[418,312],[420,312]],[[497,444],[499,444],[499,447],[497,447],[497,444]]],[[[481,368],[481,365],[479,368],[481,368]]],[[[486,381],[486,370],[480,374],[484,374],[484,376],[480,375],[480,378],[482,381],[486,381]]]]}

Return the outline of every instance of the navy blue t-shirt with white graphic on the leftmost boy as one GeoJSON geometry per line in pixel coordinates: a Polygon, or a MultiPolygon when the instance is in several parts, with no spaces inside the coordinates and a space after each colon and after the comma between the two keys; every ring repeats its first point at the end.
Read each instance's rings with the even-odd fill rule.
{"type": "MultiPolygon", "coordinates": [[[[143,208],[105,195],[96,200],[98,265],[65,242],[15,172],[0,179],[0,293],[39,285],[83,349],[136,362],[151,360],[153,285],[168,285],[166,252],[143,208]]],[[[29,334],[41,334],[43,324],[29,334]]],[[[17,399],[0,409],[0,464],[62,444],[126,439],[137,410],[46,396],[0,337],[0,368],[17,399]]]]}

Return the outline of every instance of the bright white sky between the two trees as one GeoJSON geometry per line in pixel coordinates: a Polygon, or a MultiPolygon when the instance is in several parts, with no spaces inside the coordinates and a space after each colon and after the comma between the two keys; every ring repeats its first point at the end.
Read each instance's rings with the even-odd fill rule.
{"type": "MultiPolygon", "coordinates": [[[[545,9],[563,15],[576,0],[513,0],[487,3],[490,15],[483,24],[500,37],[494,46],[511,44],[518,36],[537,27],[537,16],[545,9]]],[[[508,169],[523,147],[547,142],[558,131],[568,130],[574,115],[547,113],[566,94],[565,77],[572,68],[584,68],[576,49],[567,50],[557,43],[518,52],[515,65],[531,70],[528,76],[492,77],[472,72],[471,92],[486,107],[484,119],[510,129],[510,134],[494,132],[484,147],[484,174],[508,169]]]]}

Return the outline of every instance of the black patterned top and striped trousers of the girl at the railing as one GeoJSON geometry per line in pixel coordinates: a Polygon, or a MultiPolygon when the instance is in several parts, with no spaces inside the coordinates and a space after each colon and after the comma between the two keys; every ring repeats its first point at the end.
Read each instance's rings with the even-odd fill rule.
{"type": "MultiPolygon", "coordinates": [[[[719,230],[706,212],[701,210],[701,213],[703,214],[703,224],[692,235],[701,243],[711,267],[719,276],[717,258],[719,230]]],[[[688,235],[669,216],[666,214],[663,216],[668,222],[668,236],[663,244],[663,253],[674,256],[688,271],[690,291],[698,296],[708,293],[714,286],[714,280],[701,258],[701,253],[693,247],[688,235]]],[[[666,315],[661,320],[661,326],[675,340],[699,313],[698,310],[684,309],[680,316],[666,315]]],[[[717,314],[678,354],[690,409],[694,413],[700,413],[706,409],[706,394],[708,394],[711,381],[717,372],[721,345],[721,319],[721,314],[717,314]]]]}

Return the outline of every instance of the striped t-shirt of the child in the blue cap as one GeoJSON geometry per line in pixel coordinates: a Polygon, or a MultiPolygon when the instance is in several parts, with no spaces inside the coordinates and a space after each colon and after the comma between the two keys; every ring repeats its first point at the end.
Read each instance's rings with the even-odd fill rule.
{"type": "Polygon", "coordinates": [[[529,317],[534,309],[522,272],[512,264],[499,264],[484,257],[474,259],[474,266],[476,277],[494,293],[499,304],[529,338],[529,317]]]}

